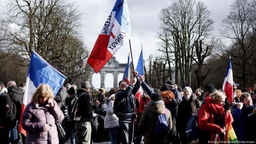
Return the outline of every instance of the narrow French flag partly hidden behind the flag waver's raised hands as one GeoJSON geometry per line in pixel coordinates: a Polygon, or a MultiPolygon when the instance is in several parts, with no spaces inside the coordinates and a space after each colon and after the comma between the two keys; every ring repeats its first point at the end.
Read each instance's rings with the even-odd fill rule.
{"type": "MultiPolygon", "coordinates": [[[[140,52],[140,57],[139,57],[138,64],[137,64],[137,67],[136,67],[136,71],[138,72],[138,76],[144,75],[144,63],[143,63],[142,45],[141,45],[141,52],[140,52]]],[[[142,94],[142,88],[140,86],[140,89],[135,94],[135,96],[139,99],[139,102],[140,102],[141,94],[142,94]]]]}

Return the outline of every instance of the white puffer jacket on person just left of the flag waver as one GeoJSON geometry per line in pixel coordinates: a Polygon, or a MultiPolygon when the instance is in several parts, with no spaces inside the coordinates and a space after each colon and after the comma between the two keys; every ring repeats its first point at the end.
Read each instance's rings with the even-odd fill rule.
{"type": "Polygon", "coordinates": [[[104,120],[104,127],[105,128],[114,128],[116,126],[119,126],[118,123],[118,117],[116,114],[114,114],[114,100],[111,100],[112,97],[114,97],[115,94],[112,94],[108,98],[108,105],[104,104],[103,107],[106,110],[107,114],[104,120]]]}

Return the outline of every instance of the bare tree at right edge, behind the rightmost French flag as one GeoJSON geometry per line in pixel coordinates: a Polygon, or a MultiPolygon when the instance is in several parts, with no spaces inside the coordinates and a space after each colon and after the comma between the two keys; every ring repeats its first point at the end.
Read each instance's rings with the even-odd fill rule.
{"type": "MultiPolygon", "coordinates": [[[[236,0],[230,7],[230,13],[222,20],[221,33],[232,41],[230,47],[221,47],[222,51],[232,57],[234,78],[242,82],[242,87],[248,84],[250,61],[256,51],[253,41],[256,35],[255,16],[256,8],[254,0],[236,0]]],[[[224,56],[222,56],[224,57],[224,56]]],[[[225,56],[228,57],[228,56],[225,56]]]]}

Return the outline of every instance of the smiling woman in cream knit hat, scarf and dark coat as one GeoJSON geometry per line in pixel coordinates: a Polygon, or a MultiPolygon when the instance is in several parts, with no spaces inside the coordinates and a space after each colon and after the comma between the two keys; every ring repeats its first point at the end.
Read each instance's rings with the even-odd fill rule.
{"type": "Polygon", "coordinates": [[[192,93],[192,89],[186,86],[183,89],[184,96],[178,105],[178,114],[176,118],[177,130],[180,134],[181,144],[197,144],[198,140],[186,139],[186,126],[191,116],[196,114],[198,108],[201,107],[200,100],[196,99],[197,96],[192,93]]]}

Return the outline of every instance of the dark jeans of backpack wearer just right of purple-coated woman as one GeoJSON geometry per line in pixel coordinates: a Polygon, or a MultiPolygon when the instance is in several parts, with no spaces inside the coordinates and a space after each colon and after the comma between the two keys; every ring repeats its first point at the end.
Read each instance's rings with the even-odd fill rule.
{"type": "Polygon", "coordinates": [[[65,122],[64,130],[66,132],[66,136],[63,138],[63,144],[65,144],[66,140],[70,137],[71,144],[76,144],[76,128],[75,122],[65,122]]]}

